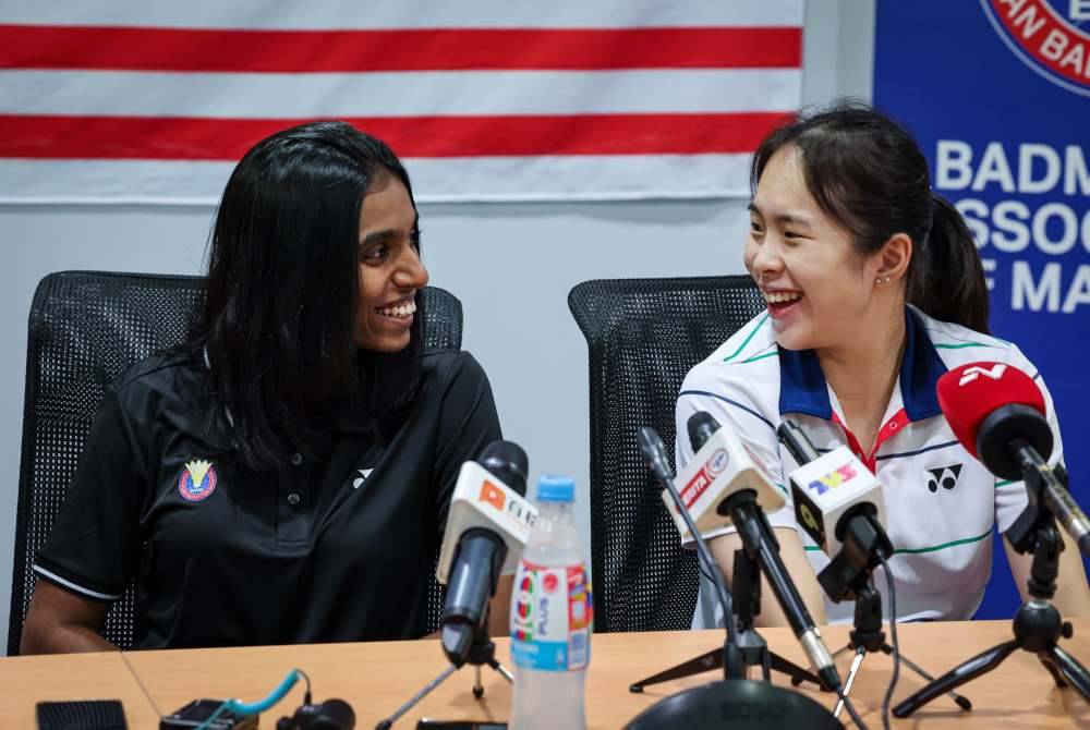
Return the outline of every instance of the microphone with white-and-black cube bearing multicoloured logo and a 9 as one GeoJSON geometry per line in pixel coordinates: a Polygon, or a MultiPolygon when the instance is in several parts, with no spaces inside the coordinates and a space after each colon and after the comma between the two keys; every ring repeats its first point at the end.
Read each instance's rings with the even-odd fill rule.
{"type": "Polygon", "coordinates": [[[776,436],[799,464],[788,480],[795,518],[832,561],[818,574],[835,603],[855,598],[855,585],[893,556],[886,535],[882,485],[847,447],[822,455],[799,426],[786,419],[776,436]]]}

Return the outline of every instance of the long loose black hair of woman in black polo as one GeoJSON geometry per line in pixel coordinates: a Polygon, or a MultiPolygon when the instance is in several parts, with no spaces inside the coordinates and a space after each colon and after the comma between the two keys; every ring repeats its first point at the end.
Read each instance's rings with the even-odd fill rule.
{"type": "Polygon", "coordinates": [[[384,354],[354,343],[360,209],[390,175],[412,199],[397,155],[343,122],[278,132],[231,173],[187,346],[201,361],[207,353],[214,448],[237,450],[250,469],[282,467],[292,451],[320,452],[350,410],[388,434],[415,398],[420,292],[408,348],[384,354]]]}

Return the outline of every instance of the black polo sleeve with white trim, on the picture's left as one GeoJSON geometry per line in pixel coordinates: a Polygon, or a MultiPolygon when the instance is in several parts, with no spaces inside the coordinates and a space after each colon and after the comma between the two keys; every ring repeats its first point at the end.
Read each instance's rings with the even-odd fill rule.
{"type": "Polygon", "coordinates": [[[114,387],[108,387],[34,572],[95,600],[121,597],[140,559],[145,492],[141,453],[114,387]]]}

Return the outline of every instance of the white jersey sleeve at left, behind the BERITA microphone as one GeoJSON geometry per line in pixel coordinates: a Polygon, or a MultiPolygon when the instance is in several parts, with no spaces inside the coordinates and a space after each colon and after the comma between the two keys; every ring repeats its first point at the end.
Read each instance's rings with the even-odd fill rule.
{"type": "MultiPolygon", "coordinates": [[[[674,445],[674,454],[677,471],[680,473],[692,461],[693,457],[692,445],[689,441],[689,418],[694,413],[704,411],[710,413],[722,427],[729,428],[749,447],[758,465],[786,495],[784,466],[779,458],[779,441],[776,439],[773,423],[761,414],[758,405],[746,396],[741,388],[724,391],[723,384],[716,384],[714,389],[699,385],[700,378],[694,376],[700,367],[701,365],[698,365],[686,378],[675,407],[677,438],[674,445]]],[[[788,501],[784,507],[767,514],[768,524],[773,527],[797,530],[798,524],[795,521],[790,498],[785,497],[785,499],[788,501]]],[[[738,531],[734,525],[728,525],[703,533],[703,536],[705,539],[710,539],[736,532],[738,531]]],[[[685,544],[689,545],[691,542],[691,539],[685,540],[685,544]]]]}

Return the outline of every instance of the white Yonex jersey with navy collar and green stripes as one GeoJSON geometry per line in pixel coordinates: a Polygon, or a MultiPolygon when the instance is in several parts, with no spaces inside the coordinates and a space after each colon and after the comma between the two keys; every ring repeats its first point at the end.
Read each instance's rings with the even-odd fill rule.
{"type": "MultiPolygon", "coordinates": [[[[906,307],[905,353],[897,385],[882,418],[872,453],[863,453],[843,425],[836,393],[825,381],[813,351],[785,350],[776,344],[768,315],[762,314],[700,363],[686,377],[678,397],[677,466],[692,459],[686,424],[706,411],[731,428],[764,462],[788,500],[768,514],[776,527],[798,531],[807,556],[821,571],[828,564],[803,530],[798,530],[787,476],[797,469],[776,438],[784,417],[796,421],[819,451],[848,446],[883,486],[886,532],[893,542],[889,561],[901,621],[969,619],[980,606],[992,567],[992,528],[1005,532],[1027,504],[1021,482],[997,480],[958,442],[943,417],[935,384],[948,369],[978,361],[1001,362],[1026,372],[1044,393],[1049,424],[1055,437],[1050,463],[1062,460],[1063,445],[1052,397],[1037,368],[1017,346],[959,325],[942,323],[906,307]]],[[[711,532],[714,537],[732,527],[711,532]]],[[[875,575],[888,611],[885,577],[875,575]]],[[[714,593],[701,580],[693,628],[723,625],[714,593]]],[[[772,599],[768,597],[767,599],[772,599]]],[[[831,623],[850,622],[853,604],[826,599],[831,623]]]]}

